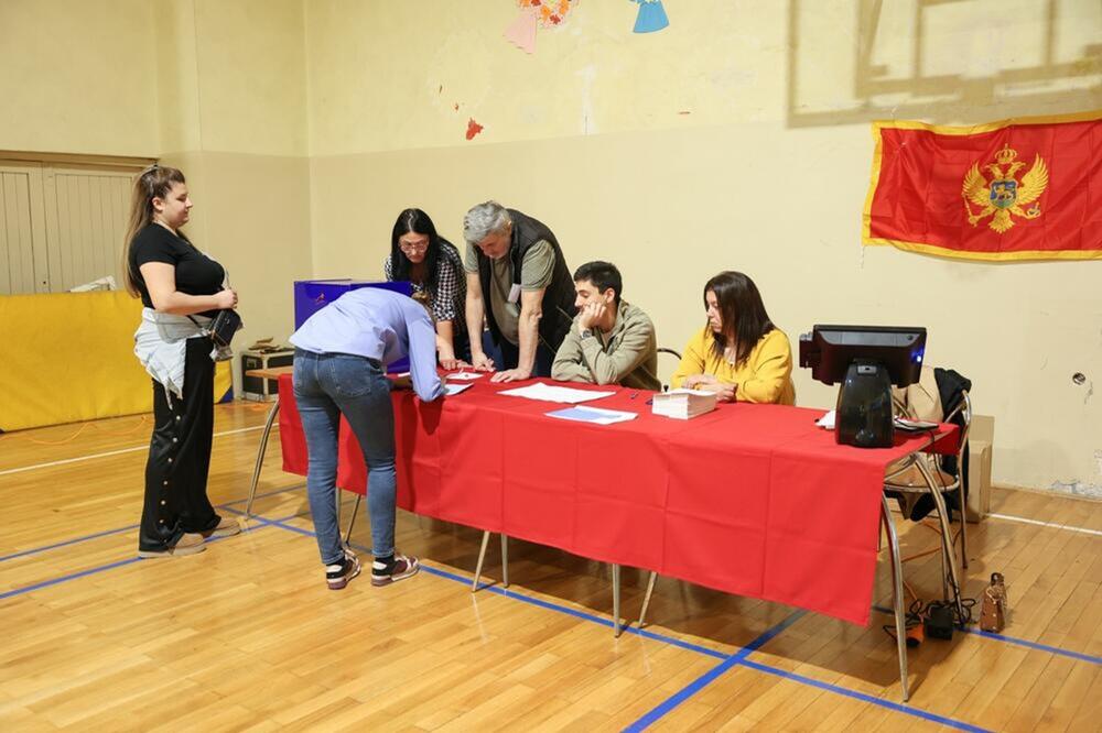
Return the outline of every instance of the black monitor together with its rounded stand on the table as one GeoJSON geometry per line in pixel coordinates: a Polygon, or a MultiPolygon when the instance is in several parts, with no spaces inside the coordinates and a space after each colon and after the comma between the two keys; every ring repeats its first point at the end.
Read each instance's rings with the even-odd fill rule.
{"type": "Polygon", "coordinates": [[[918,382],[926,329],[893,326],[815,326],[800,336],[800,366],[823,384],[841,384],[834,438],[858,448],[893,445],[892,385],[918,382]]]}

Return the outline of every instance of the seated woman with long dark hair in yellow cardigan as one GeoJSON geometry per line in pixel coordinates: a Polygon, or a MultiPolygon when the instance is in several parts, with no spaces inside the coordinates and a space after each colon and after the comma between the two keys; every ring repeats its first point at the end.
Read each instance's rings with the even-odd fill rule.
{"type": "Polygon", "coordinates": [[[722,402],[796,404],[792,349],[754,281],[721,272],[704,285],[704,310],[707,325],[689,340],[670,384],[715,392],[722,402]]]}

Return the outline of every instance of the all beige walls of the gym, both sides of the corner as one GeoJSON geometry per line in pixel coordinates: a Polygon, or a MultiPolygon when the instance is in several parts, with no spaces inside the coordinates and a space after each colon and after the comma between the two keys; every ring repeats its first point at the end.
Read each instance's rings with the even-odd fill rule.
{"type": "MultiPolygon", "coordinates": [[[[670,28],[637,35],[635,3],[587,0],[529,56],[500,0],[6,0],[0,98],[19,113],[0,150],[181,165],[242,341],[285,338],[291,280],[379,275],[399,209],[457,241],[494,197],[551,225],[570,265],[617,262],[663,344],[728,267],[793,346],[814,322],[926,325],[929,362],[996,417],[996,481],[1102,491],[1102,264],[860,247],[868,122],[1102,108],[1099,3],[666,7],[670,28]]],[[[796,376],[801,404],[830,405],[796,376]]]]}

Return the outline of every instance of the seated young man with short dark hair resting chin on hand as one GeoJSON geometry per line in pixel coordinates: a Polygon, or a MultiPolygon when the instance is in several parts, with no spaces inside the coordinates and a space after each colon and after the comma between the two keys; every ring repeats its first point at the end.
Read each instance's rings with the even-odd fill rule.
{"type": "Polygon", "coordinates": [[[588,384],[662,389],[655,325],[620,299],[624,284],[611,262],[586,262],[574,273],[577,317],[551,365],[551,379],[588,384]]]}

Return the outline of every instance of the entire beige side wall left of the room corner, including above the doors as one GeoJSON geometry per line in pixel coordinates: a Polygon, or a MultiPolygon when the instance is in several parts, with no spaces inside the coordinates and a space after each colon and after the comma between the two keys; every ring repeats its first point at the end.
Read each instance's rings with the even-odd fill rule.
{"type": "Polygon", "coordinates": [[[0,99],[0,150],[181,167],[240,343],[287,339],[312,273],[301,0],[3,0],[0,99]]]}

